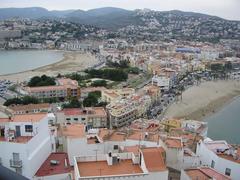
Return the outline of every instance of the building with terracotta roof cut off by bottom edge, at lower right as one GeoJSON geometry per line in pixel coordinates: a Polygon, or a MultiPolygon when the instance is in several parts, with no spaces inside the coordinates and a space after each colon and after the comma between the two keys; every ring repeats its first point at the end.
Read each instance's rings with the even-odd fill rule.
{"type": "Polygon", "coordinates": [[[230,180],[231,178],[209,167],[191,168],[181,171],[180,180],[192,179],[230,180]]]}

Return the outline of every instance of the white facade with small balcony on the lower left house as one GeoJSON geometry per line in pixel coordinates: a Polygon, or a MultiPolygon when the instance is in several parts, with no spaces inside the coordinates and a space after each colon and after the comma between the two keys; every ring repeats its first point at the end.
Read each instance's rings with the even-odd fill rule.
{"type": "MultiPolygon", "coordinates": [[[[38,168],[52,151],[47,116],[39,122],[7,122],[5,133],[20,126],[20,135],[32,136],[27,142],[1,141],[2,165],[32,179],[38,168]],[[32,125],[33,132],[26,132],[25,125],[32,125]]],[[[1,127],[3,124],[1,123],[1,127]]],[[[7,138],[7,137],[6,137],[7,138]]]]}

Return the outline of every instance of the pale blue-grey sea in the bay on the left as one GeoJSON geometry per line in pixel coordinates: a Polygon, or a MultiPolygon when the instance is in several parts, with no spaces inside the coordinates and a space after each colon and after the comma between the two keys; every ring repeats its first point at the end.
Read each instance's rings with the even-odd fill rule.
{"type": "Polygon", "coordinates": [[[32,70],[62,59],[61,51],[0,50],[0,75],[32,70]]]}

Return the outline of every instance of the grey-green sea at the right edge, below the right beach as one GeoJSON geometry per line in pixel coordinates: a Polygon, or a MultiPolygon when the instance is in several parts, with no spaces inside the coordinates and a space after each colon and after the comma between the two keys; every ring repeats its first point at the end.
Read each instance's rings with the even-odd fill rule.
{"type": "Polygon", "coordinates": [[[240,144],[240,97],[204,121],[208,122],[209,138],[240,144]]]}

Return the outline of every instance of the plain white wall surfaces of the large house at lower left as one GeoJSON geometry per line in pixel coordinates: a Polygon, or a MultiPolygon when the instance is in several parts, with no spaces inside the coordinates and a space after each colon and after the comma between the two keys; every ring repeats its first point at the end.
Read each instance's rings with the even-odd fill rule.
{"type": "MultiPolygon", "coordinates": [[[[16,124],[18,123],[10,123],[11,126],[16,124]]],[[[21,124],[23,126],[25,123],[21,124]]],[[[51,153],[48,119],[44,118],[39,123],[34,123],[33,126],[36,127],[33,129],[36,135],[27,143],[0,143],[0,158],[2,159],[3,166],[15,171],[14,168],[10,168],[9,161],[13,159],[13,153],[19,153],[20,160],[22,160],[22,175],[29,179],[32,179],[39,167],[51,153]]]]}

